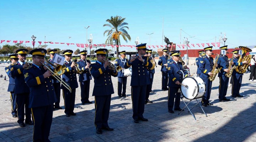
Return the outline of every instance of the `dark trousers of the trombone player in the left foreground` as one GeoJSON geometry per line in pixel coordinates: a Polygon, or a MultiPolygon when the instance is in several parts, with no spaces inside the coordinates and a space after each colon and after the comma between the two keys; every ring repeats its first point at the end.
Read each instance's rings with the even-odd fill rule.
{"type": "Polygon", "coordinates": [[[33,141],[50,142],[50,127],[52,125],[53,105],[31,108],[34,121],[33,141]]]}

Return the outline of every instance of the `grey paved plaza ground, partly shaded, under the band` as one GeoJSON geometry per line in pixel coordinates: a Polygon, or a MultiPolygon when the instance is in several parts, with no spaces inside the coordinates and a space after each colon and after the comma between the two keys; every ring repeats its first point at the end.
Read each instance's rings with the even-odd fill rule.
{"type": "MultiPolygon", "coordinates": [[[[157,61],[156,61],[157,62],[157,61]]],[[[1,64],[0,74],[6,75],[1,64]]],[[[188,66],[191,72],[196,72],[197,66],[188,66]]],[[[210,103],[213,106],[203,107],[208,115],[206,117],[197,105],[192,109],[196,120],[187,109],[178,115],[167,109],[167,91],[161,91],[160,66],[156,67],[153,90],[149,99],[152,104],[145,105],[144,117],[149,121],[139,121],[135,124],[132,119],[132,100],[130,95],[130,77],[127,81],[126,98],[118,98],[117,77],[112,77],[115,93],[112,94],[109,126],[114,131],[103,130],[102,135],[96,134],[94,126],[94,97],[89,100],[93,104],[82,105],[80,101],[80,86],[76,89],[75,110],[76,116],[66,117],[64,113],[64,101],[61,96],[60,106],[62,110],[53,112],[53,122],[50,131],[52,142],[187,142],[187,141],[256,141],[256,82],[249,81],[250,73],[245,73],[242,80],[240,94],[243,98],[232,98],[231,87],[228,88],[227,98],[229,102],[219,102],[218,85],[216,77],[212,85],[210,103]]],[[[1,142],[30,142],[32,141],[33,126],[20,127],[17,118],[12,118],[10,93],[7,92],[9,78],[0,78],[0,141],[1,142]]],[[[91,80],[90,94],[94,87],[91,80]]],[[[103,91],[103,90],[102,90],[103,91]]],[[[186,100],[188,102],[188,100],[186,100]]],[[[192,100],[190,107],[196,103],[192,100]]],[[[201,104],[201,103],[200,103],[201,104]]],[[[180,107],[185,104],[181,101],[180,107]]]]}

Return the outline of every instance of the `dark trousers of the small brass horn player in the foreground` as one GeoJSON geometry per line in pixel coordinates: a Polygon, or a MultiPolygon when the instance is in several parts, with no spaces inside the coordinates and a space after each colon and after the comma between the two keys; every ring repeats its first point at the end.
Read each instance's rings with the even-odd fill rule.
{"type": "Polygon", "coordinates": [[[110,111],[110,95],[94,96],[95,99],[95,119],[96,128],[108,127],[108,116],[110,111]]]}

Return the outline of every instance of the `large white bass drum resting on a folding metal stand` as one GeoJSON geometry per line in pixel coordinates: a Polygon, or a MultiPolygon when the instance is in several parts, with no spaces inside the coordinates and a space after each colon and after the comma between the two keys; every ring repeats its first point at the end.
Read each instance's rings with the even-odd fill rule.
{"type": "Polygon", "coordinates": [[[199,76],[186,77],[181,84],[187,86],[181,85],[181,93],[186,99],[202,98],[206,92],[206,85],[199,76]]]}

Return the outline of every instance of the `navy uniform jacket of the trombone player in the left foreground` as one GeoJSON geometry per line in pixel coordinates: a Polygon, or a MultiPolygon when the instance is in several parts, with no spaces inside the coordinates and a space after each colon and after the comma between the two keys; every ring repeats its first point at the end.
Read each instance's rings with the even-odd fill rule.
{"type": "Polygon", "coordinates": [[[46,70],[43,68],[40,70],[34,64],[32,64],[30,69],[23,70],[25,81],[28,87],[30,87],[29,108],[52,105],[57,101],[53,89],[52,77],[44,78],[44,72],[46,72],[46,70]]]}

